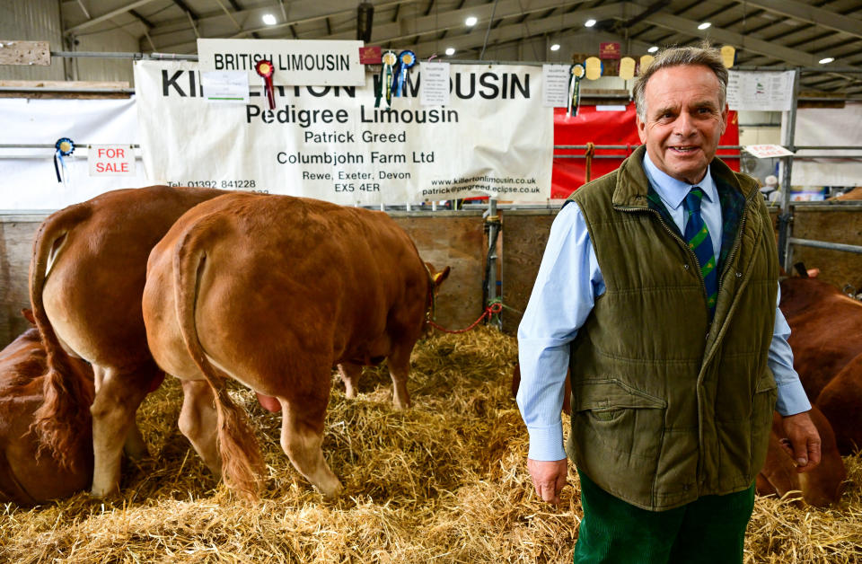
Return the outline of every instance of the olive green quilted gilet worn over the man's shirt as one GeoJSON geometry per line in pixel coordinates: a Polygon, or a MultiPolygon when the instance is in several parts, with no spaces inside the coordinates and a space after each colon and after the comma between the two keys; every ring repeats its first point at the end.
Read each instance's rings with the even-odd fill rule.
{"type": "Polygon", "coordinates": [[[644,151],[572,195],[606,290],[571,346],[566,450],[614,496],[663,510],[746,489],[761,470],[778,256],[756,183],[715,159],[716,183],[743,198],[710,324],[693,251],[648,205],[644,151]]]}

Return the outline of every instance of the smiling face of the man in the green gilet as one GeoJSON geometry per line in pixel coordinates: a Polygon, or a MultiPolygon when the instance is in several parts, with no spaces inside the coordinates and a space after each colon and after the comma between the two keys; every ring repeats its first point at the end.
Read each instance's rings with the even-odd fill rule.
{"type": "Polygon", "coordinates": [[[640,142],[650,160],[678,181],[697,184],[716,154],[727,126],[718,105],[718,78],[708,66],[670,66],[656,71],[644,89],[640,142]]]}

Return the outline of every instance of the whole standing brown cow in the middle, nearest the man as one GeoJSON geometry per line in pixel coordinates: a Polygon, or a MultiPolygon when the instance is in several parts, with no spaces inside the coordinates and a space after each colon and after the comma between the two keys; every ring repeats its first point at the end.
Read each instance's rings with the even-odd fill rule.
{"type": "Polygon", "coordinates": [[[260,194],[189,210],[151,253],[143,302],[153,356],[182,380],[180,430],[254,497],[259,451],[225,390],[233,378],[277,400],[283,450],[336,496],[341,483],[321,451],[331,367],[353,395],[361,366],[387,358],[395,405],[409,406],[410,351],[448,272],[432,276],[380,212],[260,194]]]}

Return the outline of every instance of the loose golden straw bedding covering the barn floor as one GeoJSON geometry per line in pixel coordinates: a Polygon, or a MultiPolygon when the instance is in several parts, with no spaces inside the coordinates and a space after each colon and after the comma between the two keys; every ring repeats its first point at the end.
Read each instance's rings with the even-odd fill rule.
{"type": "MultiPolygon", "coordinates": [[[[574,487],[551,507],[532,492],[527,437],[510,397],[515,339],[494,330],[420,341],[413,407],[391,408],[383,369],[360,397],[336,382],[324,454],[347,493],[329,503],[278,446],[280,416],[251,393],[268,464],[258,504],[208,473],[176,426],[180,387],[169,378],[138,420],[154,454],[124,467],[122,495],[2,507],[0,561],[9,562],[566,562],[581,508],[574,487]]],[[[840,507],[803,509],[759,498],[746,563],[862,562],[862,457],[848,457],[840,507]]]]}

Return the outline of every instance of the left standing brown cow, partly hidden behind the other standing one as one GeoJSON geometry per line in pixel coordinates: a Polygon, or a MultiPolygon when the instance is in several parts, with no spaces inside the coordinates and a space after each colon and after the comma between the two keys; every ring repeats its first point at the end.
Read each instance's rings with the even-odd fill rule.
{"type": "Polygon", "coordinates": [[[38,428],[64,461],[64,429],[90,420],[64,349],[89,361],[96,390],[93,495],[119,487],[124,443],[128,455],[146,455],[135,412],[163,377],[146,347],[141,313],[146,259],[189,207],[224,193],[167,186],[114,190],[48,216],[36,235],[30,298],[50,367],[38,428]]]}

